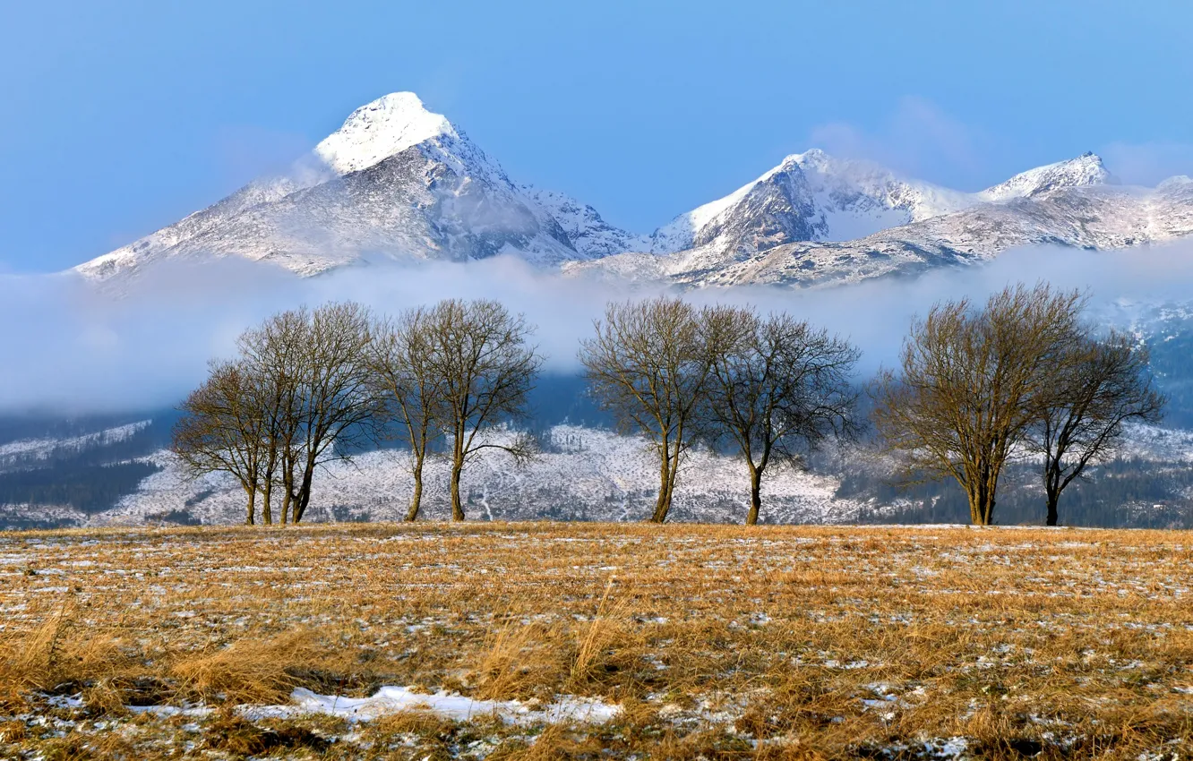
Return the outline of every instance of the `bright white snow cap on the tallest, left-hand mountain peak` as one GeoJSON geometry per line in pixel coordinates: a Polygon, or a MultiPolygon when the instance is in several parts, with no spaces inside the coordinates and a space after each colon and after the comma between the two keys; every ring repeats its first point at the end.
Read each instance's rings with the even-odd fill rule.
{"type": "Polygon", "coordinates": [[[353,111],[344,126],[315,147],[315,154],[347,174],[439,135],[456,135],[445,116],[427,111],[414,93],[390,93],[353,111]]]}

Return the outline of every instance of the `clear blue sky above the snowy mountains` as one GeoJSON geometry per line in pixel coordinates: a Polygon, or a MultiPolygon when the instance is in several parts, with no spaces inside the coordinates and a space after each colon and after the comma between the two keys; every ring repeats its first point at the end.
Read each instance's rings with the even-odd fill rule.
{"type": "Polygon", "coordinates": [[[639,231],[810,147],[966,190],[1084,150],[1154,182],[1193,173],[1191,8],[4,0],[0,271],[174,222],[400,89],[639,231]]]}

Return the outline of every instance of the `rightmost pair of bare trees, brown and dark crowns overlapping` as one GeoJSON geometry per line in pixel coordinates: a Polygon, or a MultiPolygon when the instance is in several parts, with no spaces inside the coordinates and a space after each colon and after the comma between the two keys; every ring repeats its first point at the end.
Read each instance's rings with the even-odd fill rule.
{"type": "Polygon", "coordinates": [[[954,478],[971,522],[994,522],[1006,466],[1034,456],[1055,526],[1062,491],[1118,451],[1124,423],[1161,419],[1146,346],[1096,335],[1082,320],[1086,301],[1038,284],[1009,286],[983,307],[937,304],[913,324],[898,367],[879,373],[880,443],[919,477],[954,478]]]}

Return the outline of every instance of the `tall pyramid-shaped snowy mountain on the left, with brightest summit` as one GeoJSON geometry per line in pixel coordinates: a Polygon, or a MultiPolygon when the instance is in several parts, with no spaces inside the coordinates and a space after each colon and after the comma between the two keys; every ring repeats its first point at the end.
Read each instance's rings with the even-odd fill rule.
{"type": "Polygon", "coordinates": [[[156,260],[237,255],[310,276],[377,258],[515,253],[548,265],[591,255],[583,224],[571,224],[577,247],[550,210],[414,93],[356,110],[313,159],[304,163],[313,169],[253,182],[76,270],[107,279],[156,260]]]}

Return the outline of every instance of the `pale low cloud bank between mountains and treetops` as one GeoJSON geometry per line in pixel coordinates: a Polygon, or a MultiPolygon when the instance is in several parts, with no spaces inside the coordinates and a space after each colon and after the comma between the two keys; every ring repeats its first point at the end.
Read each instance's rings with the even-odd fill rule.
{"type": "MultiPolygon", "coordinates": [[[[811,290],[691,291],[697,303],[752,303],[787,310],[840,333],[864,351],[863,372],[890,363],[913,317],[934,302],[984,299],[1008,283],[1047,280],[1086,289],[1094,314],[1117,304],[1193,298],[1193,245],[1095,253],[1062,248],[1009,252],[990,264],[811,290]]],[[[206,363],[234,353],[236,335],[298,304],[354,299],[381,313],[440,298],[496,298],[537,326],[548,369],[577,369],[576,346],[610,299],[662,286],[564,278],[509,258],[419,266],[344,268],[309,279],[259,264],[162,264],[119,297],[69,274],[0,276],[0,410],[143,410],[175,404],[206,363]]]]}

